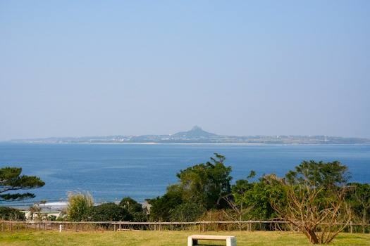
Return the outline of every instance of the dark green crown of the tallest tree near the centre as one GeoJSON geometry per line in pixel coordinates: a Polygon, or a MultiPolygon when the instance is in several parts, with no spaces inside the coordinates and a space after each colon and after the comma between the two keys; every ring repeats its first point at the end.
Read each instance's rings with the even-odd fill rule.
{"type": "Polygon", "coordinates": [[[188,167],[176,174],[183,189],[183,198],[206,209],[227,207],[223,198],[231,195],[231,167],[223,164],[226,157],[217,153],[214,155],[216,159],[211,157],[211,162],[188,167]]]}

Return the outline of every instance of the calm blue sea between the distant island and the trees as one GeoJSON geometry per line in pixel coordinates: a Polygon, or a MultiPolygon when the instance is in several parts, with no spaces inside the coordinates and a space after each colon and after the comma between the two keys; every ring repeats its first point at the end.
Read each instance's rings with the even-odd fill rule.
{"type": "Polygon", "coordinates": [[[350,181],[370,183],[370,145],[0,143],[0,167],[22,167],[23,174],[46,183],[30,190],[36,198],[2,205],[63,202],[68,190],[87,190],[96,202],[128,196],[144,202],[164,195],[178,182],[180,169],[207,162],[214,153],[226,156],[234,183],[251,170],[257,172],[255,180],[263,174],[284,176],[303,160],[338,160],[350,168],[350,181]]]}

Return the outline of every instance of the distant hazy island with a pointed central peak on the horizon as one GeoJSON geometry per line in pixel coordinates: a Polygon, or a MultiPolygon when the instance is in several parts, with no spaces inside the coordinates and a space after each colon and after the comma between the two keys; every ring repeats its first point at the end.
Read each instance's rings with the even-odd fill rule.
{"type": "Polygon", "coordinates": [[[14,139],[13,143],[240,143],[240,144],[370,144],[368,138],[338,136],[223,136],[193,127],[170,135],[85,136],[14,139]]]}

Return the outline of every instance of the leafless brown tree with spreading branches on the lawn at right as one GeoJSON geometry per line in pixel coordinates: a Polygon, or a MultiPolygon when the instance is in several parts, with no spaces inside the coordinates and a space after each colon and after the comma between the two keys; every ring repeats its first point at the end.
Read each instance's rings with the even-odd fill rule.
{"type": "Polygon", "coordinates": [[[271,199],[280,218],[289,221],[309,238],[312,244],[329,243],[350,223],[350,207],[345,202],[347,188],[325,190],[311,183],[287,185],[285,201],[271,199]]]}

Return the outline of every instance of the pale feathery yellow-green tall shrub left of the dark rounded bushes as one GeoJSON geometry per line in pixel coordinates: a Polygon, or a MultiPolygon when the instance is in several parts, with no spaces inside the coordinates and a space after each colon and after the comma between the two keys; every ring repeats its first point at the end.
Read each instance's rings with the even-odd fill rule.
{"type": "Polygon", "coordinates": [[[90,193],[68,191],[67,216],[69,221],[82,221],[87,219],[87,210],[94,205],[90,193]]]}

